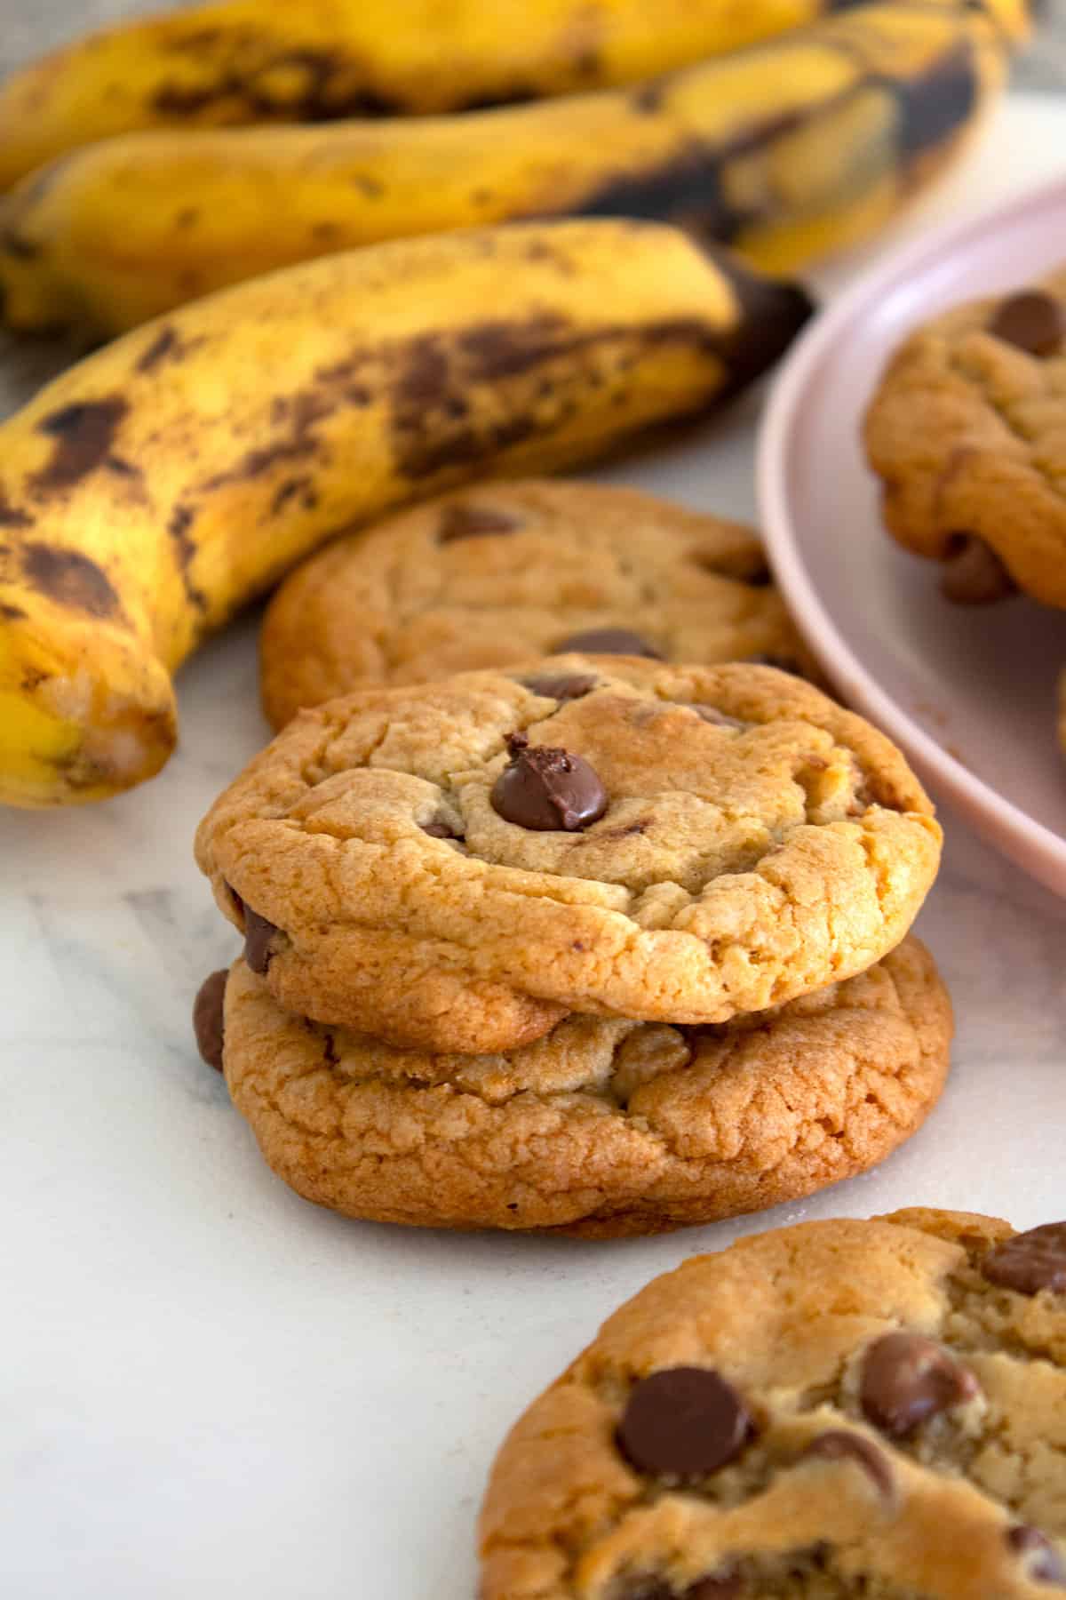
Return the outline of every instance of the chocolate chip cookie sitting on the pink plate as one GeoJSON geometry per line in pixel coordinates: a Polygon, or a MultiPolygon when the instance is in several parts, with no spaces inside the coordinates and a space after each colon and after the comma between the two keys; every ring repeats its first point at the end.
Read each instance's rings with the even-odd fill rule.
{"type": "Polygon", "coordinates": [[[1066,606],[1066,270],[913,333],[865,442],[889,530],[945,563],[949,600],[1066,606]]]}

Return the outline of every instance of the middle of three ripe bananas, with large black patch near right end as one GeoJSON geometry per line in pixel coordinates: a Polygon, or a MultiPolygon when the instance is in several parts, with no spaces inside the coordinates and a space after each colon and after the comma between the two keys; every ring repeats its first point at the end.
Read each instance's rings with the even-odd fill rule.
{"type": "Polygon", "coordinates": [[[1021,0],[900,0],[636,91],[107,141],[8,197],[5,315],[115,333],[308,256],[563,213],[695,219],[794,270],[882,226],[938,171],[1023,22],[1021,0]]]}

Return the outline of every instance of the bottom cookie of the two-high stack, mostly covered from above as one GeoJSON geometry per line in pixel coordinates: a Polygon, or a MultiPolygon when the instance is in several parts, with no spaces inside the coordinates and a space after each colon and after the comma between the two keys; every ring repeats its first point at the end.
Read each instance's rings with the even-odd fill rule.
{"type": "MultiPolygon", "coordinates": [[[[219,974],[201,994],[213,1019],[198,1035],[217,1064],[219,974]]],[[[307,1200],[379,1222],[607,1238],[756,1211],[866,1171],[937,1102],[951,1026],[917,939],[858,978],[719,1027],[569,1016],[491,1056],[401,1051],[305,1022],[240,960],[222,1056],[267,1163],[307,1200]]]]}

